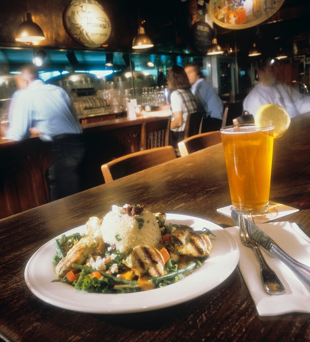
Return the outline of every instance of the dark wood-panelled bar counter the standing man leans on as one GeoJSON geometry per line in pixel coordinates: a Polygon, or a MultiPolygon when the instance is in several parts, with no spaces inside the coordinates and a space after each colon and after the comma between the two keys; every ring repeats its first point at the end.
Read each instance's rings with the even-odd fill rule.
{"type": "MultiPolygon", "coordinates": [[[[153,113],[156,115],[156,113],[153,113]]],[[[140,150],[141,128],[158,117],[120,118],[82,125],[87,147],[86,188],[104,183],[101,165],[140,150]]],[[[46,171],[52,162],[51,143],[39,137],[22,142],[0,137],[0,219],[48,203],[46,171]]]]}

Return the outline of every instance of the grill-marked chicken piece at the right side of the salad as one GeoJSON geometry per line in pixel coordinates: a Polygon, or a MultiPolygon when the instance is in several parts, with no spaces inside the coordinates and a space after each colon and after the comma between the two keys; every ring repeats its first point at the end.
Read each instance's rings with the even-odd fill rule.
{"type": "Polygon", "coordinates": [[[186,254],[191,257],[208,257],[212,244],[206,234],[177,228],[171,232],[167,247],[176,254],[186,254]]]}

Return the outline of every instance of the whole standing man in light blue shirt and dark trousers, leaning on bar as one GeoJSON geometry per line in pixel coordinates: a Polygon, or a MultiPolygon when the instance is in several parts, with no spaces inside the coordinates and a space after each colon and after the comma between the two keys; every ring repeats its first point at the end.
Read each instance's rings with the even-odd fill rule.
{"type": "Polygon", "coordinates": [[[40,80],[34,65],[18,71],[19,90],[10,103],[7,138],[21,141],[35,132],[41,140],[53,142],[53,163],[47,173],[52,201],[83,190],[85,147],[68,94],[40,80]]]}

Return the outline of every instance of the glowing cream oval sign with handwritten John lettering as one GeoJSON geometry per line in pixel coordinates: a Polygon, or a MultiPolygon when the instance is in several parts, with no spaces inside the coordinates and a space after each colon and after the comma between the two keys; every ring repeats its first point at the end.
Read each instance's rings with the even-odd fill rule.
{"type": "Polygon", "coordinates": [[[63,21],[69,36],[90,48],[100,47],[111,35],[110,20],[95,0],[70,1],[63,21]]]}

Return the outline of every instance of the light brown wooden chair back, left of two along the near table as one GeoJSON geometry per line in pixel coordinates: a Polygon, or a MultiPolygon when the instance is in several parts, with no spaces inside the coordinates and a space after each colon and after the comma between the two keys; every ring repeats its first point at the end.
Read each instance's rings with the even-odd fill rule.
{"type": "Polygon", "coordinates": [[[176,159],[172,146],[151,148],[119,157],[101,166],[105,183],[176,159]]]}

